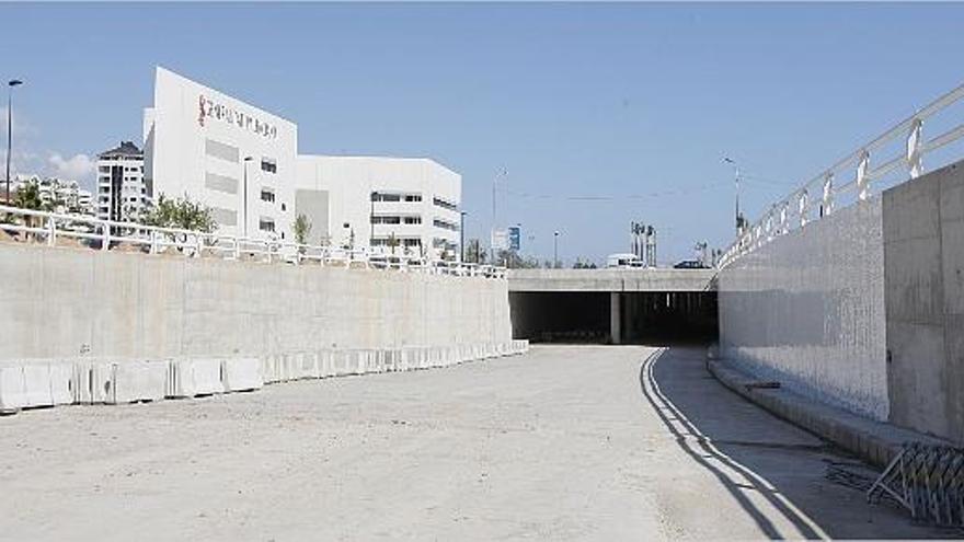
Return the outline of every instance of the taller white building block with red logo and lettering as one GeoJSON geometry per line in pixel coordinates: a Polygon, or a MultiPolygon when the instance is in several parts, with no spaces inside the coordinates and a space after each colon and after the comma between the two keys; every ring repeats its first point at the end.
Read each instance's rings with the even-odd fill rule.
{"type": "Polygon", "coordinates": [[[144,136],[157,195],[207,205],[221,232],[290,240],[294,123],[158,68],[144,136]]]}

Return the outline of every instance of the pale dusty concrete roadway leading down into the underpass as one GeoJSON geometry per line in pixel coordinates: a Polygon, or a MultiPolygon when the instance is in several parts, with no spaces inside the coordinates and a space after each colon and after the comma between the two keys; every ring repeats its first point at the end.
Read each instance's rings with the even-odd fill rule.
{"type": "Polygon", "coordinates": [[[0,418],[10,540],[922,538],[703,350],[535,347],[449,369],[0,418]]]}

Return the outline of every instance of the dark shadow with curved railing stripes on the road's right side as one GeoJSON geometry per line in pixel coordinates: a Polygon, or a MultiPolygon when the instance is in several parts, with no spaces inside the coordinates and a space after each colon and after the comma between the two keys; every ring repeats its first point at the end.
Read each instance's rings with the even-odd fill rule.
{"type": "Polygon", "coordinates": [[[894,508],[868,505],[861,491],[825,480],[834,463],[874,473],[723,388],[705,369],[704,349],[657,349],[640,368],[640,385],[679,448],[719,481],[761,537],[936,534],[894,508]]]}

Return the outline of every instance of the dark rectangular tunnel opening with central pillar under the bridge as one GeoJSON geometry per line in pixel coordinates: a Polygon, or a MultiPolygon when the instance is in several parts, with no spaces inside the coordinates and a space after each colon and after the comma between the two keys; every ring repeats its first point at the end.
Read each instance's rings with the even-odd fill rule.
{"type": "Polygon", "coordinates": [[[510,291],[513,336],[533,343],[715,341],[715,291],[510,291]]]}

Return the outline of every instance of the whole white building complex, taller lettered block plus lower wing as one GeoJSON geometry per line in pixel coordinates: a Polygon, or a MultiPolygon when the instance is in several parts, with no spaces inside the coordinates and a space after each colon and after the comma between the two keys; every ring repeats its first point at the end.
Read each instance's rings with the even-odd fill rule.
{"type": "Polygon", "coordinates": [[[294,241],[303,214],[310,244],[458,253],[459,174],[428,159],[298,155],[294,123],[163,68],[156,77],[144,122],[156,195],[199,200],[229,234],[294,241]]]}

